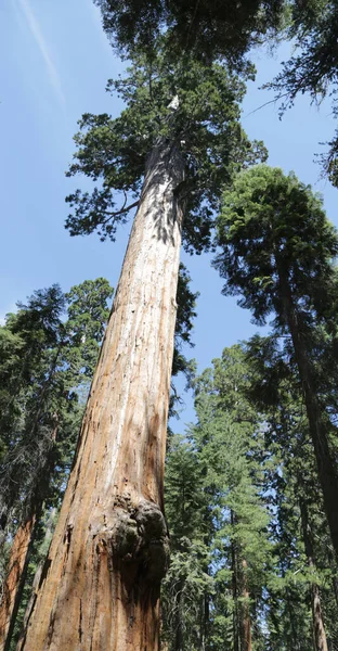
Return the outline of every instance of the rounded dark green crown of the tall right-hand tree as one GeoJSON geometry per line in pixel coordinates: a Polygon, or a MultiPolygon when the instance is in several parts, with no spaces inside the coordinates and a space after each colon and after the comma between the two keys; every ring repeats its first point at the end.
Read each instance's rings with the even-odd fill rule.
{"type": "Polygon", "coordinates": [[[338,239],[310,187],[264,165],[244,171],[223,195],[218,226],[222,251],[214,265],[226,280],[224,294],[240,293],[239,305],[259,324],[275,314],[283,330],[280,259],[304,326],[321,323],[335,295],[338,239]]]}

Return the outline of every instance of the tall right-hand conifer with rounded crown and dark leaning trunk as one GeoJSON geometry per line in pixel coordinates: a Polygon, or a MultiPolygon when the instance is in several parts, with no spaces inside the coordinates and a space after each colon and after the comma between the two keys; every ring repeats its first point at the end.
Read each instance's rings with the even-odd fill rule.
{"type": "Polygon", "coordinates": [[[218,239],[222,251],[216,266],[226,279],[224,293],[240,293],[239,305],[250,308],[258,323],[273,314],[275,333],[290,337],[338,553],[337,431],[325,378],[329,369],[335,375],[336,231],[320,199],[295,175],[258,166],[224,194],[218,239]]]}

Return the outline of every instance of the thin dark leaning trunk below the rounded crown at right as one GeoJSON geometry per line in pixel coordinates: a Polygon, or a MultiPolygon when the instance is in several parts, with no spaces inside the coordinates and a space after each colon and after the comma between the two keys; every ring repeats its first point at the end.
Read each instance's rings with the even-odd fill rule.
{"type": "Polygon", "coordinates": [[[303,335],[299,329],[297,309],[294,305],[288,276],[280,255],[275,254],[281,283],[285,318],[290,331],[295,358],[301,380],[306,401],[309,429],[317,464],[318,478],[323,490],[324,508],[328,521],[333,545],[338,558],[338,477],[337,464],[329,448],[327,425],[323,419],[323,409],[317,399],[303,335]]]}

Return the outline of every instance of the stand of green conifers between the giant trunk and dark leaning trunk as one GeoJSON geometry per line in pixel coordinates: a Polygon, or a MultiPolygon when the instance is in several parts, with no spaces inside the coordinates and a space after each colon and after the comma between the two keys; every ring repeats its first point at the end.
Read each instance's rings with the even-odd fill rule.
{"type": "Polygon", "coordinates": [[[297,368],[281,337],[225,348],[194,387],[197,423],[171,438],[167,458],[165,643],[240,649],[249,613],[252,650],[309,651],[315,585],[335,648],[337,564],[297,368]]]}

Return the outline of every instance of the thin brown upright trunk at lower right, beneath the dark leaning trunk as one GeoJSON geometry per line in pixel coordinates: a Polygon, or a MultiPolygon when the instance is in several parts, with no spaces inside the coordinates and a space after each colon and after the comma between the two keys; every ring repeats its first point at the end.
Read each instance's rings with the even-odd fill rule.
{"type": "MultiPolygon", "coordinates": [[[[303,499],[300,499],[300,515],[303,531],[303,540],[308,564],[312,573],[315,572],[315,562],[313,554],[313,545],[309,524],[308,507],[303,499]]],[[[311,608],[313,625],[313,649],[314,651],[328,651],[326,634],[323,622],[320,587],[315,580],[311,583],[311,608]]]]}

